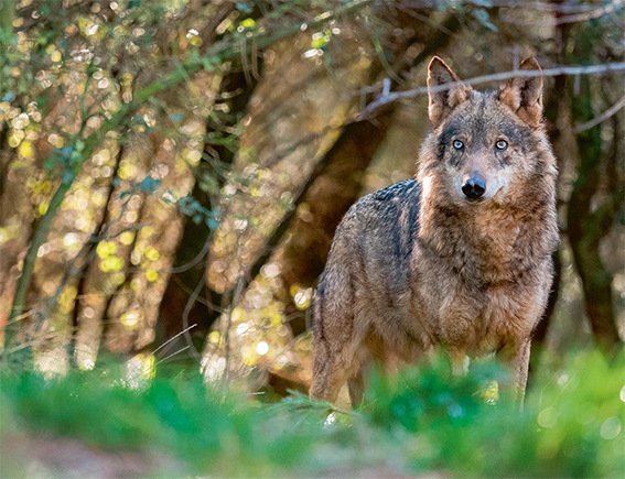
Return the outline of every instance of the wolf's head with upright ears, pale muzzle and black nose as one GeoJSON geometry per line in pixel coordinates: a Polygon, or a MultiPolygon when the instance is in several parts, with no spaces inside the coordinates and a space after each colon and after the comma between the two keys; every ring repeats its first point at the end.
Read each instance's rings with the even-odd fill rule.
{"type": "Polygon", "coordinates": [[[432,58],[428,88],[433,130],[419,166],[425,188],[434,181],[446,202],[462,207],[522,200],[531,194],[534,178],[554,178],[542,128],[542,78],[524,76],[528,72],[540,72],[535,58],[522,62],[519,76],[498,90],[482,92],[463,85],[441,58],[432,58]]]}

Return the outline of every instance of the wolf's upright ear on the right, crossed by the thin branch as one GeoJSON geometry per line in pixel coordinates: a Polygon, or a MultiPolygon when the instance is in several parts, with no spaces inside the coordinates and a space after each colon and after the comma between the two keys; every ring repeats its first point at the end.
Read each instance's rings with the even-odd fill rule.
{"type": "MultiPolygon", "coordinates": [[[[542,72],[532,56],[522,61],[519,70],[542,72]]],[[[538,127],[542,120],[542,76],[510,78],[502,87],[499,100],[527,124],[538,127]]]]}

